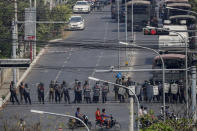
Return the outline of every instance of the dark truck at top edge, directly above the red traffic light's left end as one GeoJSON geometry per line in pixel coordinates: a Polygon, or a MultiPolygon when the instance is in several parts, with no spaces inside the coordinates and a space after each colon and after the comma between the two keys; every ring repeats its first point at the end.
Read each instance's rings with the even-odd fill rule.
{"type": "Polygon", "coordinates": [[[132,4],[133,4],[133,30],[142,31],[149,25],[151,14],[151,2],[147,0],[133,0],[127,2],[127,29],[132,28],[132,4]]]}

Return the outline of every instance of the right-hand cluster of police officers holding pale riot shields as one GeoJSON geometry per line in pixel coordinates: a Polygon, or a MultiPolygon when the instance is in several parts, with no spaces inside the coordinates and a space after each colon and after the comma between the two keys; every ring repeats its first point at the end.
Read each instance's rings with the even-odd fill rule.
{"type": "MultiPolygon", "coordinates": [[[[126,80],[125,77],[117,78],[116,84],[121,84],[127,86],[133,90],[137,95],[139,101],[146,102],[162,102],[163,87],[161,82],[145,81],[142,85],[135,83],[130,77],[126,80]]],[[[172,81],[170,83],[165,83],[165,100],[170,103],[186,103],[185,99],[185,88],[182,80],[172,81]]],[[[119,86],[114,86],[115,100],[119,99],[120,102],[124,102],[125,97],[132,96],[132,92],[119,88],[119,86]]]]}

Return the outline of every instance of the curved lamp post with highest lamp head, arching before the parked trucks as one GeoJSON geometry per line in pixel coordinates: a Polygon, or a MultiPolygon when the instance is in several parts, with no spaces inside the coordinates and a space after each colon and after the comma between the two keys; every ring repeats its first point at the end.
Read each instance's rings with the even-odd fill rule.
{"type": "MultiPolygon", "coordinates": [[[[161,57],[159,52],[154,50],[154,49],[144,47],[144,46],[139,46],[139,45],[136,45],[134,43],[133,44],[128,44],[128,43],[125,43],[125,42],[120,42],[120,43],[123,44],[123,45],[130,45],[130,46],[133,46],[133,47],[138,47],[138,48],[150,50],[150,51],[153,51],[154,53],[156,53],[157,55],[159,55],[159,57],[161,59],[161,62],[162,62],[163,109],[164,109],[164,112],[165,112],[165,105],[166,105],[165,104],[165,64],[164,64],[163,58],[161,57]]],[[[165,113],[164,113],[164,121],[165,121],[165,119],[166,119],[166,116],[165,116],[165,113]]]]}

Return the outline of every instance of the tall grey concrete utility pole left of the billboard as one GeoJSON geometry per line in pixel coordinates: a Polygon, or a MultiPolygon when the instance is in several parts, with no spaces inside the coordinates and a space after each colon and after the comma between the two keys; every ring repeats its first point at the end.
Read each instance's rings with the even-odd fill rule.
{"type": "MultiPolygon", "coordinates": [[[[17,1],[14,0],[14,20],[12,21],[12,59],[16,59],[16,48],[18,46],[18,24],[17,24],[17,1]]],[[[16,68],[13,68],[13,81],[16,87],[16,68]]]]}

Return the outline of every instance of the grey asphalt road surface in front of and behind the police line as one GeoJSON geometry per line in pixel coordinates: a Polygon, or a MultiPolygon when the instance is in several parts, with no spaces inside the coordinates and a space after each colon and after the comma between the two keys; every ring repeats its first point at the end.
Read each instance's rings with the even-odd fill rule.
{"type": "MultiPolygon", "coordinates": [[[[114,118],[121,124],[121,131],[128,131],[129,124],[129,103],[118,103],[114,101],[113,86],[111,86],[108,94],[108,102],[102,104],[65,104],[63,101],[60,104],[51,104],[48,102],[49,83],[51,80],[62,82],[65,80],[73,87],[75,79],[84,83],[89,76],[94,76],[103,80],[115,81],[115,73],[96,73],[96,69],[109,69],[110,66],[118,66],[118,50],[103,49],[103,45],[116,45],[118,30],[117,23],[111,19],[110,7],[105,7],[103,12],[92,12],[91,14],[83,15],[86,22],[86,28],[83,31],[73,31],[71,35],[59,43],[51,43],[51,47],[41,56],[35,67],[24,80],[31,88],[32,105],[12,105],[7,106],[0,111],[0,130],[3,130],[3,125],[7,120],[9,127],[14,126],[19,118],[23,118],[27,125],[32,123],[41,123],[42,131],[54,131],[59,126],[62,126],[67,131],[68,118],[55,117],[50,115],[38,115],[30,113],[31,109],[74,115],[76,108],[80,107],[81,112],[85,113],[95,125],[94,113],[96,108],[106,108],[107,114],[112,114],[114,118]],[[63,43],[63,44],[62,44],[63,43]],[[73,45],[73,46],[67,46],[73,45]],[[81,44],[78,47],[76,44],[81,44]],[[101,45],[101,48],[87,48],[91,44],[101,45]],[[86,46],[84,46],[86,45],[86,46]],[[86,48],[84,48],[86,47],[86,48]],[[43,82],[45,85],[45,104],[39,104],[37,99],[36,84],[43,82]]],[[[128,33],[130,39],[131,32],[128,33]]],[[[125,41],[124,24],[120,25],[120,41],[125,41]]],[[[135,33],[137,44],[146,44],[147,46],[156,46],[157,37],[144,36],[142,32],[135,33]],[[149,42],[142,42],[141,41],[149,42]],[[151,42],[153,41],[153,42],[151,42]],[[154,44],[151,44],[154,43],[154,44]],[[150,45],[148,45],[150,44],[150,45]]],[[[132,50],[127,52],[131,59],[131,67],[125,68],[151,68],[154,53],[144,50],[132,50]]],[[[124,66],[126,61],[125,52],[121,51],[121,65],[124,66]]],[[[151,77],[150,72],[129,73],[132,79],[142,83],[151,77]]],[[[94,82],[90,81],[93,86],[94,82]]],[[[71,101],[74,100],[73,90],[70,91],[71,101]]],[[[101,99],[100,99],[101,100],[101,99]]],[[[148,108],[154,107],[159,111],[161,104],[145,104],[148,108]]],[[[136,108],[136,105],[135,105],[136,108]]],[[[77,130],[85,130],[80,128],[77,130]]]]}

